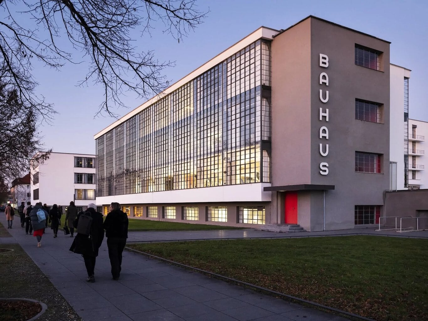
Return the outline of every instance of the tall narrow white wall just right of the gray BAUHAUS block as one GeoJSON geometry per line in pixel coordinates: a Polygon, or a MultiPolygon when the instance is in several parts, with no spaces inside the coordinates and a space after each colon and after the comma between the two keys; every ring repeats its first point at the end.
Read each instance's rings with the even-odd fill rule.
{"type": "MultiPolygon", "coordinates": [[[[389,161],[397,163],[397,190],[407,190],[404,187],[404,77],[410,77],[410,70],[390,65],[389,161]]],[[[387,106],[384,108],[387,110],[387,106]]]]}

